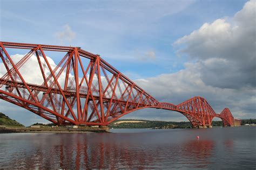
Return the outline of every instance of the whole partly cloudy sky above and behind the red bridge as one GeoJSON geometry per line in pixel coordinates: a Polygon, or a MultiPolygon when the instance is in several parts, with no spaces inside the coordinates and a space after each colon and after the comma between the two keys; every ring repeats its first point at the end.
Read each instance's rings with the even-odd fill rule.
{"type": "MultiPolygon", "coordinates": [[[[80,46],[159,101],[201,96],[239,119],[256,118],[255,28],[256,1],[0,0],[0,41],[80,46]]],[[[24,125],[46,123],[3,100],[0,112],[24,125]]],[[[123,118],[187,121],[152,108],[123,118]]]]}

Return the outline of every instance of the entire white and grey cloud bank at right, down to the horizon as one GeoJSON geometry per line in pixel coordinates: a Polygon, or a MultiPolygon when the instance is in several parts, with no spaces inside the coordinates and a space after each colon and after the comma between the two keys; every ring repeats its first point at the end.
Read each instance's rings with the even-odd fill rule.
{"type": "MultiPolygon", "coordinates": [[[[192,60],[184,64],[184,70],[136,83],[160,101],[179,104],[193,96],[202,96],[216,112],[229,107],[234,117],[255,118],[255,2],[247,2],[230,22],[227,18],[217,19],[178,39],[174,43],[180,47],[178,54],[192,60]]],[[[140,119],[155,119],[156,111],[140,111],[137,115],[140,119]]],[[[161,111],[160,115],[164,120],[173,118],[169,111],[161,111]]],[[[175,119],[184,120],[182,115],[175,119]]]]}

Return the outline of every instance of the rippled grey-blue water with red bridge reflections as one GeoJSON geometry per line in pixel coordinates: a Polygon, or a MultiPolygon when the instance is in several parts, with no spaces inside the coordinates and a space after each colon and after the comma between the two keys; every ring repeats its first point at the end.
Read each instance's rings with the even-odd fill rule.
{"type": "Polygon", "coordinates": [[[255,130],[244,126],[0,134],[0,168],[255,169],[255,130]]]}

